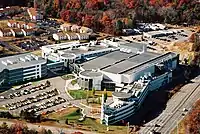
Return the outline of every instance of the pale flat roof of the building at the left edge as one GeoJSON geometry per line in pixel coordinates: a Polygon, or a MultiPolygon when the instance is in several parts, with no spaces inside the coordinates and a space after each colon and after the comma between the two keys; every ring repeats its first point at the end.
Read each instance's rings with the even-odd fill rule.
{"type": "Polygon", "coordinates": [[[13,70],[26,68],[39,63],[46,63],[46,60],[30,53],[3,57],[0,58],[0,71],[3,71],[4,69],[13,70]],[[7,65],[4,63],[7,63],[7,65]]]}

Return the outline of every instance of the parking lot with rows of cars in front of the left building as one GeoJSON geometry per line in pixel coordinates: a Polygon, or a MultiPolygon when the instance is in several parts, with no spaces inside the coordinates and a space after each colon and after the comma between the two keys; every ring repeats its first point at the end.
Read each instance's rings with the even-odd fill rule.
{"type": "Polygon", "coordinates": [[[69,105],[65,94],[65,80],[55,77],[34,83],[27,83],[0,94],[0,106],[13,114],[21,110],[48,113],[69,105]]]}

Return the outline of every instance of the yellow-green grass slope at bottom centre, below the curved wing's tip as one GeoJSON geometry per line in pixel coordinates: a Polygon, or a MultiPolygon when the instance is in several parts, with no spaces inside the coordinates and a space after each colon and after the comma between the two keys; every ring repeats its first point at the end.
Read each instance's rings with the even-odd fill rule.
{"type": "Polygon", "coordinates": [[[68,127],[73,126],[75,129],[82,129],[86,131],[96,131],[98,133],[106,133],[106,134],[125,134],[126,127],[125,126],[109,126],[110,131],[106,131],[107,127],[105,125],[100,124],[100,120],[85,118],[84,121],[78,121],[81,117],[81,114],[78,112],[78,108],[71,107],[66,108],[63,111],[51,113],[48,115],[49,119],[58,119],[61,122],[65,123],[65,120],[68,119],[68,127]]]}

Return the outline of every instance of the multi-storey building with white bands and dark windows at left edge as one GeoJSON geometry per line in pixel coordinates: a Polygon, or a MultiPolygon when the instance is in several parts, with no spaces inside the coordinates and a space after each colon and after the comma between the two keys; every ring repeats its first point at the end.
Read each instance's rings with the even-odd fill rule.
{"type": "Polygon", "coordinates": [[[0,58],[0,85],[15,84],[47,75],[46,60],[26,53],[0,58]]]}

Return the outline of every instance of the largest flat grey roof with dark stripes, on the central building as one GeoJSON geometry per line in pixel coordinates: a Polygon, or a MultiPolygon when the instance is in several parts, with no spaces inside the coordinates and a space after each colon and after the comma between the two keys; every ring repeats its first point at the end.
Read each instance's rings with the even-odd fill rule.
{"type": "Polygon", "coordinates": [[[142,54],[124,53],[114,51],[99,58],[90,60],[81,64],[82,68],[100,69],[102,71],[111,72],[115,74],[131,74],[135,70],[156,64],[165,58],[172,58],[176,56],[175,53],[158,54],[153,52],[144,52],[142,54]]]}

